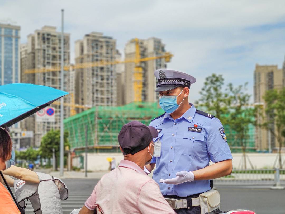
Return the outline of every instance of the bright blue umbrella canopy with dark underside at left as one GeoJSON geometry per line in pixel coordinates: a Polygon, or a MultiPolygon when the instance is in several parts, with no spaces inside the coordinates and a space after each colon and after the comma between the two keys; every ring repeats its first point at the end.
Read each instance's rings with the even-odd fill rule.
{"type": "Polygon", "coordinates": [[[68,94],[55,88],[25,83],[0,86],[0,126],[11,126],[68,94]]]}

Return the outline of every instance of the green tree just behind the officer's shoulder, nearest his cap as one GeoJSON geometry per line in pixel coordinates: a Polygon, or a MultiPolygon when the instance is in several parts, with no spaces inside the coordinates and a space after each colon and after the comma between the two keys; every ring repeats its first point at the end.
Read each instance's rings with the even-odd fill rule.
{"type": "Polygon", "coordinates": [[[199,106],[204,106],[207,112],[215,115],[222,124],[226,122],[225,115],[228,113],[228,106],[225,103],[227,100],[227,93],[223,92],[224,78],[222,74],[212,74],[206,77],[204,86],[199,92],[201,98],[196,103],[199,106]]]}

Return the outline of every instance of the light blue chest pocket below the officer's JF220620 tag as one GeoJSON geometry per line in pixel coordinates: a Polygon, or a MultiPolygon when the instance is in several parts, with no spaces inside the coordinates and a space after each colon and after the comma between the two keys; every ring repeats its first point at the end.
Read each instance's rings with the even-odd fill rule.
{"type": "Polygon", "coordinates": [[[183,134],[183,155],[191,155],[201,157],[201,154],[206,149],[206,143],[204,141],[204,134],[197,132],[184,132],[183,134]]]}

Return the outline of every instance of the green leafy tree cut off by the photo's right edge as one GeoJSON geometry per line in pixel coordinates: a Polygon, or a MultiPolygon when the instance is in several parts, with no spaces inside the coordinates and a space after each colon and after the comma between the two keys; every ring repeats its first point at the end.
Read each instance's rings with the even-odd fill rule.
{"type": "Polygon", "coordinates": [[[281,90],[271,89],[266,91],[264,121],[259,124],[262,128],[270,131],[271,135],[279,144],[279,166],[282,168],[281,148],[285,136],[285,88],[281,90]]]}

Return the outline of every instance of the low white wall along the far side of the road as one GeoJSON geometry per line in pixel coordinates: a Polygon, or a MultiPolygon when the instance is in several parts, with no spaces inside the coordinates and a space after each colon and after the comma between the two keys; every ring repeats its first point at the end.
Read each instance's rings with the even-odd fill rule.
{"type": "MultiPolygon", "coordinates": [[[[85,154],[84,156],[85,161],[85,154]]],[[[276,160],[278,154],[263,154],[263,153],[249,153],[248,157],[253,164],[254,168],[272,168],[274,161],[276,160]]],[[[109,169],[109,162],[107,158],[115,158],[117,165],[119,165],[120,161],[123,159],[123,154],[121,153],[89,153],[87,155],[87,169],[90,171],[105,171],[109,169]]],[[[233,154],[233,167],[241,168],[242,154],[234,153],[233,154]],[[239,166],[240,165],[240,166],[239,166]]],[[[283,154],[282,160],[285,160],[285,154],[283,154]]],[[[74,160],[75,162],[75,160],[74,160]]],[[[276,167],[278,166],[278,161],[276,160],[276,167]]],[[[85,164],[84,164],[85,167],[85,164]]],[[[251,166],[247,161],[247,168],[250,169],[251,166]]]]}

